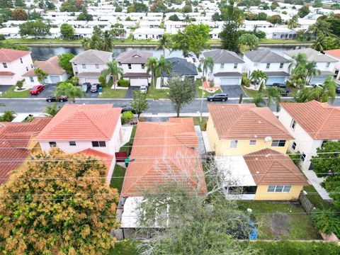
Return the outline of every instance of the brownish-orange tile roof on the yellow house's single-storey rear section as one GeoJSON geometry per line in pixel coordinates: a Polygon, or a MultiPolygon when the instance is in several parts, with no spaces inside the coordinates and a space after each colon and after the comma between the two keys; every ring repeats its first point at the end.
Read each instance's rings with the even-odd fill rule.
{"type": "Polygon", "coordinates": [[[256,185],[308,185],[307,179],[286,154],[261,149],[244,160],[256,185]]]}

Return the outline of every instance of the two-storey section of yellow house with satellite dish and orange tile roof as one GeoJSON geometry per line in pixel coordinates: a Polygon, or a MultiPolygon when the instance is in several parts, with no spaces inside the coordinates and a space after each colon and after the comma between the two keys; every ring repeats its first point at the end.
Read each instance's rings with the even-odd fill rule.
{"type": "Polygon", "coordinates": [[[208,108],[207,134],[216,156],[242,156],[261,149],[285,154],[294,139],[268,107],[242,103],[208,108]]]}

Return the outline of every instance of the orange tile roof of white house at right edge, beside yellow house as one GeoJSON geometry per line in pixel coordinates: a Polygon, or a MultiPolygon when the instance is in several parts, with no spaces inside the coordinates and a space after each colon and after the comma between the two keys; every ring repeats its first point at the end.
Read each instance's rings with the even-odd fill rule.
{"type": "Polygon", "coordinates": [[[281,103],[281,106],[315,140],[340,139],[340,108],[328,103],[281,103]]]}

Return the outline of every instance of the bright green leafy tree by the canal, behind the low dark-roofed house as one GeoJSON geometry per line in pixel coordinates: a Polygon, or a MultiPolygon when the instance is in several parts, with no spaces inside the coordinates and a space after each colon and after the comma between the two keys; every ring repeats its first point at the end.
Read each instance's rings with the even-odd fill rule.
{"type": "Polygon", "coordinates": [[[174,50],[182,50],[184,56],[188,56],[189,52],[199,58],[203,50],[208,49],[208,40],[210,40],[209,26],[203,24],[190,24],[184,28],[183,32],[179,31],[172,38],[172,48],[174,50]]]}

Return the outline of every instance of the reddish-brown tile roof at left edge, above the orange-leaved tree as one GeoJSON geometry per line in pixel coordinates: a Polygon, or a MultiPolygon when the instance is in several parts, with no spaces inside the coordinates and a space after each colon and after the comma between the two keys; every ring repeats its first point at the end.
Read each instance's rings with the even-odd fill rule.
{"type": "Polygon", "coordinates": [[[30,154],[33,135],[38,134],[51,118],[34,118],[30,123],[0,123],[0,184],[30,154]]]}

